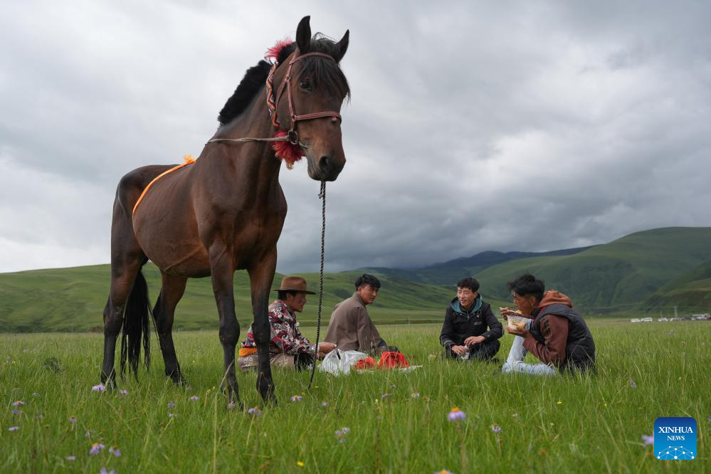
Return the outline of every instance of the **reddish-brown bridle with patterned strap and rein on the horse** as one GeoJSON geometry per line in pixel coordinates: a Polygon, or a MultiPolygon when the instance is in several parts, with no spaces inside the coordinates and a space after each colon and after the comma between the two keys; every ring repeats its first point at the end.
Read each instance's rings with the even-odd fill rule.
{"type": "Polygon", "coordinates": [[[334,58],[331,56],[325,54],[325,53],[305,53],[300,56],[297,56],[296,58],[293,58],[292,60],[289,61],[289,67],[286,70],[286,75],[284,76],[284,80],[282,80],[281,85],[279,86],[279,89],[276,94],[274,94],[274,73],[276,72],[277,68],[279,67],[278,61],[275,61],[274,65],[272,66],[271,70],[269,71],[269,75],[267,76],[267,81],[266,81],[266,90],[267,90],[267,109],[269,111],[269,115],[272,119],[272,125],[277,127],[278,132],[277,136],[272,137],[272,138],[251,138],[251,137],[246,137],[246,138],[213,138],[208,140],[208,143],[213,143],[213,142],[289,142],[290,144],[293,145],[298,145],[301,148],[306,148],[306,145],[300,142],[299,140],[299,134],[296,130],[296,124],[299,121],[305,121],[305,120],[314,120],[317,118],[322,118],[322,117],[335,117],[339,122],[341,121],[341,115],[338,112],[335,111],[330,111],[330,112],[314,112],[312,114],[302,114],[302,115],[297,115],[295,112],[295,107],[294,107],[294,100],[291,95],[291,71],[294,68],[294,65],[304,59],[304,58],[310,58],[312,56],[320,56],[321,58],[327,58],[329,60],[332,60],[333,62],[336,62],[334,58]],[[286,90],[286,100],[288,101],[289,104],[289,115],[291,119],[291,127],[288,132],[285,132],[285,135],[280,136],[279,132],[284,132],[284,129],[281,125],[281,122],[279,120],[279,117],[277,115],[277,109],[279,106],[279,101],[281,100],[282,96],[284,95],[284,90],[286,90]]]}

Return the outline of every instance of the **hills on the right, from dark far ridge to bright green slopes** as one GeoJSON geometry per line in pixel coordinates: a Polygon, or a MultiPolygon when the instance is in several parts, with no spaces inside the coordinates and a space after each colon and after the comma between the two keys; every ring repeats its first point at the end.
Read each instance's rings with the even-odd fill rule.
{"type": "Polygon", "coordinates": [[[465,275],[481,293],[509,300],[507,281],[532,273],[586,309],[711,307],[711,228],[667,227],[587,248],[545,253],[482,252],[425,268],[362,268],[423,284],[454,285],[465,275]],[[496,262],[496,263],[495,263],[496,262]],[[492,264],[493,263],[493,264],[492,264]]]}

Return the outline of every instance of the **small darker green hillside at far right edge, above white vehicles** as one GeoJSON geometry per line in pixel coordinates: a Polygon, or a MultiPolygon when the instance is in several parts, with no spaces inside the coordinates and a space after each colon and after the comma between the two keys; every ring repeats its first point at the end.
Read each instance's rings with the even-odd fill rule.
{"type": "Polygon", "coordinates": [[[711,260],[663,285],[643,306],[648,309],[676,306],[686,312],[711,310],[711,260]]]}

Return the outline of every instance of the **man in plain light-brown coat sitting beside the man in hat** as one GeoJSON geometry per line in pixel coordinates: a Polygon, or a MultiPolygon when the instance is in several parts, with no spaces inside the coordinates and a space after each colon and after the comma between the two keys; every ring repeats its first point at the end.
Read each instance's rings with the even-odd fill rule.
{"type": "Polygon", "coordinates": [[[357,350],[367,354],[396,351],[397,347],[386,344],[365,309],[375,301],[380,290],[380,281],[373,275],[360,275],[355,281],[356,292],[347,300],[339,302],[331,313],[326,333],[326,342],[336,344],[343,351],[357,350]]]}

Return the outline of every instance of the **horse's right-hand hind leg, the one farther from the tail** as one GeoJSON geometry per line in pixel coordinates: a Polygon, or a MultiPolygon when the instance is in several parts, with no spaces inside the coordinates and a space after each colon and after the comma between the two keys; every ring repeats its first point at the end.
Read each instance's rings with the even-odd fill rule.
{"type": "Polygon", "coordinates": [[[184,384],[185,379],[182,372],[180,372],[180,364],[178,364],[178,357],[175,354],[172,331],[175,307],[178,305],[183,293],[185,293],[187,278],[167,273],[163,273],[162,276],[163,287],[153,308],[153,317],[158,330],[158,341],[163,354],[163,362],[165,362],[165,374],[175,384],[184,384]]]}

